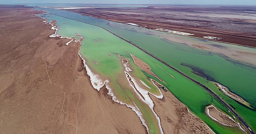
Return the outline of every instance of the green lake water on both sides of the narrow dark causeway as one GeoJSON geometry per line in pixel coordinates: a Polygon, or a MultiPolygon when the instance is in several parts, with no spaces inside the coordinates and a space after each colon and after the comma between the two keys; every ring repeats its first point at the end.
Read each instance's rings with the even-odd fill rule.
{"type": "MultiPolygon", "coordinates": [[[[157,124],[155,124],[154,120],[150,119],[152,113],[148,111],[148,108],[143,106],[143,103],[140,103],[140,101],[137,101],[131,93],[124,90],[126,87],[119,83],[120,81],[118,80],[118,76],[121,75],[120,72],[122,72],[122,64],[120,64],[120,59],[115,56],[116,54],[123,56],[126,59],[130,59],[131,63],[132,60],[130,54],[133,54],[146,62],[152,68],[152,72],[158,75],[158,77],[160,77],[164,82],[160,82],[155,77],[148,75],[136,67],[133,67],[133,69],[137,70],[138,73],[132,75],[136,75],[136,77],[139,77],[145,83],[148,82],[149,78],[157,80],[159,83],[167,87],[168,90],[170,90],[182,103],[188,106],[192,113],[207,123],[216,133],[240,133],[241,130],[234,129],[234,127],[220,125],[215,121],[212,121],[205,114],[205,106],[211,104],[214,104],[216,107],[222,109],[222,111],[225,111],[228,114],[230,113],[227,112],[227,109],[203,88],[178,74],[166,65],[160,63],[158,60],[148,56],[128,42],[121,40],[97,26],[102,26],[122,38],[132,41],[141,48],[182,71],[184,74],[189,75],[200,83],[211,88],[219,96],[224,98],[227,103],[232,105],[232,107],[235,108],[237,113],[249,124],[249,126],[254,130],[256,129],[256,100],[254,99],[256,97],[256,83],[254,82],[256,78],[255,67],[245,65],[227,57],[223,58],[223,56],[221,57],[212,52],[195,49],[187,46],[186,44],[165,40],[161,38],[161,36],[154,35],[154,32],[157,31],[101,20],[89,16],[82,16],[77,13],[67,11],[54,10],[50,8],[37,9],[43,9],[54,14],[43,16],[43,18],[57,20],[57,25],[60,27],[58,31],[60,35],[64,37],[71,37],[75,36],[74,33],[79,33],[84,37],[84,40],[82,41],[84,44],[82,44],[80,52],[86,59],[86,64],[88,64],[94,72],[97,72],[104,78],[109,78],[112,81],[112,87],[115,87],[116,89],[115,93],[120,94],[120,96],[126,96],[129,98],[128,100],[135,101],[140,109],[145,110],[143,114],[145,118],[147,118],[146,120],[148,121],[148,126],[150,126],[151,133],[158,132],[157,124]],[[64,25],[63,23],[66,24],[64,25]],[[86,23],[91,23],[97,26],[92,26],[86,23]],[[111,57],[108,57],[108,54],[111,54],[111,57]],[[243,97],[244,100],[251,104],[253,109],[246,108],[226,95],[223,95],[219,90],[217,90],[213,83],[208,82],[205,78],[195,75],[189,67],[181,64],[186,64],[189,67],[196,67],[200,69],[200,71],[206,74],[211,80],[225,85],[232,92],[243,97]]],[[[170,34],[170,36],[175,38],[177,35],[170,34]]],[[[184,37],[184,39],[186,38],[187,37],[184,37]]],[[[199,39],[194,40],[195,42],[200,41],[199,39]]],[[[223,46],[228,45],[211,41],[205,41],[205,43],[214,43],[223,46]]],[[[244,48],[241,47],[241,49],[244,48]]],[[[253,49],[252,51],[255,50],[253,49]]],[[[128,100],[127,103],[129,103],[128,100]]]]}

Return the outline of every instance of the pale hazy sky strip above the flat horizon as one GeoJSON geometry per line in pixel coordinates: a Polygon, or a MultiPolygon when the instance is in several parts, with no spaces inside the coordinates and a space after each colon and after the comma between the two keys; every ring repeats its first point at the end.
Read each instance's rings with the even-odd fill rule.
{"type": "Polygon", "coordinates": [[[0,3],[109,3],[256,5],[256,0],[0,0],[0,3]]]}

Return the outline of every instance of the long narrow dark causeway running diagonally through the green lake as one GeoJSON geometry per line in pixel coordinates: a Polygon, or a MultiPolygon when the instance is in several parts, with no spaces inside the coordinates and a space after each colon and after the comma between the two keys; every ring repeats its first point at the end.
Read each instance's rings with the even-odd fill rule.
{"type": "MultiPolygon", "coordinates": [[[[49,14],[52,14],[52,13],[49,13],[49,14]]],[[[55,15],[55,14],[52,14],[52,15],[55,15]]],[[[56,15],[56,16],[60,16],[60,15],[56,15]]],[[[63,18],[67,18],[67,17],[64,17],[64,16],[60,16],[60,17],[63,17],[63,18]]],[[[67,18],[67,19],[70,19],[70,20],[74,20],[74,19],[71,19],[71,18],[67,18]]],[[[79,21],[79,20],[74,20],[74,21],[79,21]]],[[[86,23],[86,22],[83,22],[83,21],[79,21],[81,23],[86,23]]],[[[90,23],[86,23],[86,24],[89,24],[89,25],[93,25],[93,24],[90,24],[90,23]]],[[[97,25],[93,25],[93,26],[97,26],[97,25]]],[[[97,26],[97,27],[100,27],[100,28],[103,28],[101,26],[97,26]]],[[[184,73],[180,72],[179,70],[175,69],[174,67],[172,67],[171,65],[167,64],[166,62],[164,62],[163,60],[159,59],[158,57],[154,56],[153,54],[147,52],[146,50],[140,48],[139,46],[137,46],[136,44],[134,44],[133,42],[131,41],[128,41],[118,35],[116,35],[115,33],[112,33],[111,31],[109,31],[108,29],[106,28],[103,28],[104,30],[108,31],[109,33],[117,36],[118,38],[120,39],[123,39],[124,41],[132,44],[133,46],[137,47],[138,49],[140,49],[141,51],[147,53],[148,55],[150,55],[151,57],[157,59],[158,61],[162,62],[163,64],[167,65],[168,67],[170,67],[171,69],[175,70],[176,72],[178,72],[179,74],[183,75],[184,77],[188,78],[189,80],[191,80],[192,82],[195,82],[197,85],[201,86],[202,88],[204,88],[205,90],[207,90],[209,93],[211,93],[215,98],[217,98],[217,100],[219,100],[222,104],[224,104],[235,116],[237,119],[239,119],[239,121],[241,121],[241,123],[243,123],[243,125],[246,127],[247,131],[250,132],[250,134],[255,134],[253,132],[253,130],[248,126],[248,124],[229,106],[227,105],[226,102],[224,102],[221,98],[219,98],[219,96],[217,96],[214,92],[212,92],[209,88],[207,88],[205,85],[197,82],[196,80],[190,78],[189,76],[185,75],[184,73]]]]}

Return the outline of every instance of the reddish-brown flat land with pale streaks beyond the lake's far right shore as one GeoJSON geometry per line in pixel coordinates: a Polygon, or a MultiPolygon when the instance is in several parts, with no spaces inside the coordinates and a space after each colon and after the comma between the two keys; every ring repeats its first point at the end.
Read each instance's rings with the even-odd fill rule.
{"type": "Polygon", "coordinates": [[[203,38],[256,47],[255,6],[150,6],[146,8],[67,9],[82,15],[145,28],[164,28],[203,38]]]}

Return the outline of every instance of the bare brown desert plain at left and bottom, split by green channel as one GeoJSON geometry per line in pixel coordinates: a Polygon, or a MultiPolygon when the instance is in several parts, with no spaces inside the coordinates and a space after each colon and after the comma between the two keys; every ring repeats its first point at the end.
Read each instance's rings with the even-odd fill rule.
{"type": "MultiPolygon", "coordinates": [[[[81,44],[50,38],[51,25],[33,8],[0,8],[0,133],[143,134],[132,109],[91,85],[81,44]]],[[[170,92],[150,95],[166,134],[209,134],[211,129],[170,92]]]]}

